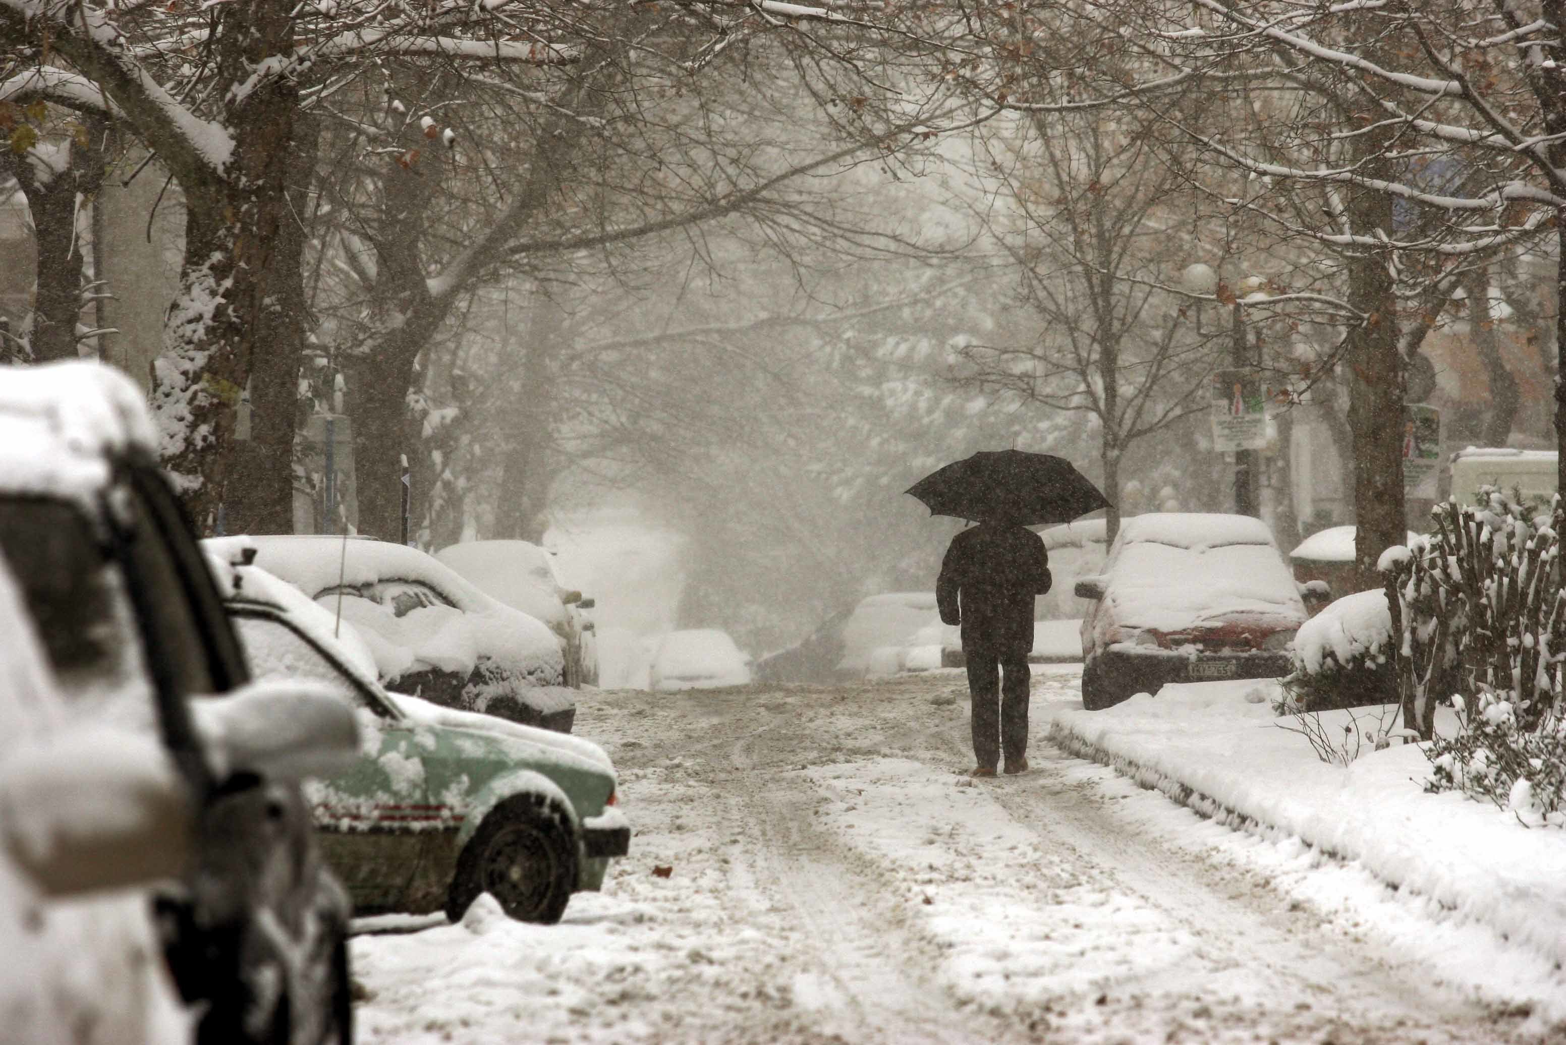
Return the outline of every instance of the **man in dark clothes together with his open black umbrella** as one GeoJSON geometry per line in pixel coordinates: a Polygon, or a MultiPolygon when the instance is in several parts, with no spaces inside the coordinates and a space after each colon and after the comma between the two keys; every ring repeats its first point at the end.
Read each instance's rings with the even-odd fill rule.
{"type": "Polygon", "coordinates": [[[1045,540],[1026,529],[1107,507],[1071,461],[1024,451],[980,451],[916,482],[930,515],[979,519],[952,538],[935,582],[946,624],[962,626],[977,765],[969,776],[1027,770],[1034,596],[1049,591],[1045,540]]]}

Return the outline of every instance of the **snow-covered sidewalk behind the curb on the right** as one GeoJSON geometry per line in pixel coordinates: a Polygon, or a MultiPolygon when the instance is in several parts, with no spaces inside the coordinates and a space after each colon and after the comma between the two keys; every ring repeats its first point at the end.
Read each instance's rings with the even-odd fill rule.
{"type": "MultiPolygon", "coordinates": [[[[1304,737],[1279,727],[1287,720],[1273,715],[1275,685],[1167,685],[1101,712],[1071,702],[1038,710],[1049,738],[1073,754],[1203,815],[1297,837],[1431,901],[1438,918],[1478,923],[1557,970],[1566,964],[1566,832],[1524,828],[1511,812],[1460,795],[1425,793],[1430,763],[1413,745],[1367,743],[1348,767],[1320,760],[1304,737]]],[[[1364,731],[1381,713],[1323,712],[1320,721],[1342,738],[1350,715],[1364,731]]],[[[1384,715],[1395,724],[1395,709],[1384,715]]]]}

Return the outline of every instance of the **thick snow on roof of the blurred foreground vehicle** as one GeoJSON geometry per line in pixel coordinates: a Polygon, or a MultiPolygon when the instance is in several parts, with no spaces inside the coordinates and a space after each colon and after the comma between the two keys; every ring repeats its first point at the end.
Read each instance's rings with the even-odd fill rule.
{"type": "Polygon", "coordinates": [[[0,490],[91,497],[108,485],[111,458],[157,447],[146,396],[113,366],[67,360],[0,374],[0,490]]]}

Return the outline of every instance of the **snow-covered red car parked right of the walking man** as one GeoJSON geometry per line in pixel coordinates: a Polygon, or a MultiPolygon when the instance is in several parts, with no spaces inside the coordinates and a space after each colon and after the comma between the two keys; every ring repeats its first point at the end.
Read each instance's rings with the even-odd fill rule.
{"type": "Polygon", "coordinates": [[[1247,515],[1157,512],[1124,519],[1104,573],[1077,577],[1082,706],[1165,682],[1289,674],[1306,619],[1272,530],[1247,515]]]}

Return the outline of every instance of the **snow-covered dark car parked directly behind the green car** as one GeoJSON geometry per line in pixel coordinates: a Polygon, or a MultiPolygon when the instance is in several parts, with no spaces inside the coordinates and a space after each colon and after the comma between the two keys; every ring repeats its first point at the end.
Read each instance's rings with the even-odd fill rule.
{"type": "Polygon", "coordinates": [[[343,537],[255,537],[255,565],[352,624],[395,693],[570,732],[576,691],[548,626],[434,555],[343,537]]]}

